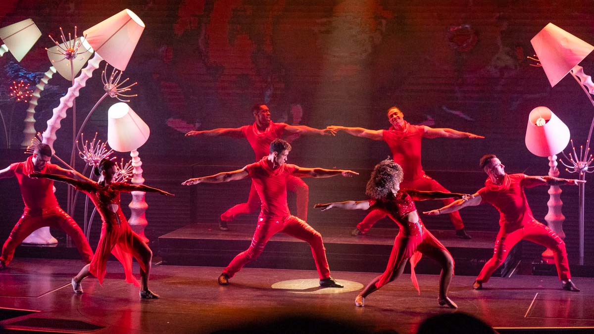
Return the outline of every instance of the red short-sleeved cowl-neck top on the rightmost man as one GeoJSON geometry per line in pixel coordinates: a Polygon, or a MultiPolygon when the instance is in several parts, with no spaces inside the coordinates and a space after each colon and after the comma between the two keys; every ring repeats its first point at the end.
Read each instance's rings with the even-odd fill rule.
{"type": "Polygon", "coordinates": [[[499,226],[514,230],[534,219],[524,188],[539,184],[542,183],[526,179],[525,174],[505,174],[503,184],[495,185],[491,179],[487,179],[485,187],[477,193],[481,195],[481,204],[489,203],[499,211],[499,226]]]}

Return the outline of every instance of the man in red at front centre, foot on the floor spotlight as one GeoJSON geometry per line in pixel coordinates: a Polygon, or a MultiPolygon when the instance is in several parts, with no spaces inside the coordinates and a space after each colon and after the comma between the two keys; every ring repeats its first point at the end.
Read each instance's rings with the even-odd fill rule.
{"type": "Polygon", "coordinates": [[[258,196],[262,201],[262,209],[258,217],[258,225],[254,231],[249,248],[239,253],[219,276],[220,285],[228,285],[229,279],[239,272],[249,261],[257,259],[264,250],[268,240],[278,232],[307,242],[311,246],[315,266],[320,275],[320,286],[342,288],[330,276],[330,268],[326,260],[326,248],[320,233],[304,220],[292,216],[287,206],[287,182],[290,177],[328,178],[334,175],[352,177],[359,175],[343,169],[301,168],[286,163],[291,146],[285,140],[275,139],[270,143],[270,154],[262,160],[251,163],[233,172],[222,172],[208,177],[191,178],[183,185],[198,183],[220,183],[236,181],[251,177],[258,196]]]}

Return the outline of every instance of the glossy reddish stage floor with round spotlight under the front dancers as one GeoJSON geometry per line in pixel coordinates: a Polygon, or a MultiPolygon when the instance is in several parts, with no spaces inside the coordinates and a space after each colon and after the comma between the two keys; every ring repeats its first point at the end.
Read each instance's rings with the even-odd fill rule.
{"type": "MultiPolygon", "coordinates": [[[[229,286],[217,285],[220,267],[153,265],[150,288],[159,300],[140,300],[124,282],[121,266],[108,264],[103,286],[83,281],[84,294],[69,284],[77,260],[15,259],[0,272],[0,324],[10,329],[59,333],[208,333],[283,315],[327,317],[365,326],[365,330],[409,333],[428,316],[465,312],[500,332],[509,328],[589,327],[594,330],[594,279],[576,278],[582,292],[561,289],[552,276],[492,278],[482,291],[474,278],[454,276],[450,298],[458,310],[437,304],[438,276],[419,275],[421,295],[403,275],[365,300],[353,301],[376,274],[333,272],[344,289],[320,289],[308,270],[245,268],[229,286]],[[19,316],[18,311],[32,310],[19,316]]],[[[135,266],[138,273],[138,267],[135,266]]]]}

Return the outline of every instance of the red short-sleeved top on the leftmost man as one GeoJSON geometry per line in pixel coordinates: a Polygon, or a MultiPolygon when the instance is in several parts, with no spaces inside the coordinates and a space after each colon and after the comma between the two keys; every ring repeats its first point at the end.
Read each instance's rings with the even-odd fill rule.
{"type": "MultiPolygon", "coordinates": [[[[18,186],[21,188],[25,208],[42,210],[58,206],[58,200],[53,194],[53,180],[29,177],[29,174],[34,172],[32,160],[33,156],[30,156],[23,162],[15,162],[10,165],[11,176],[17,178],[18,186]]],[[[39,172],[61,174],[53,163],[46,163],[39,172]]]]}

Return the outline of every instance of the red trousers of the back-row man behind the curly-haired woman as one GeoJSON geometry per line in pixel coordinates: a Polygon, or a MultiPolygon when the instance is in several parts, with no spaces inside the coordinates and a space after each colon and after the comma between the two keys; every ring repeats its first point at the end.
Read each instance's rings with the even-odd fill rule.
{"type": "MultiPolygon", "coordinates": [[[[428,177],[427,175],[423,175],[422,178],[418,178],[413,181],[402,181],[402,183],[400,184],[400,188],[401,189],[412,189],[412,190],[424,190],[424,191],[432,191],[432,190],[446,191],[446,192],[449,191],[449,190],[445,189],[443,187],[443,185],[439,184],[439,182],[435,181],[431,177],[428,177]]],[[[454,200],[451,198],[447,198],[442,201],[444,202],[444,205],[447,205],[447,204],[450,204],[451,202],[453,202],[454,200]]],[[[456,212],[449,213],[448,215],[450,215],[450,220],[451,220],[451,223],[454,224],[454,228],[456,228],[456,229],[464,228],[464,223],[462,222],[460,213],[458,213],[456,211],[456,212]]],[[[363,220],[361,220],[361,222],[357,225],[357,228],[359,229],[359,231],[365,233],[365,232],[369,231],[369,229],[372,228],[372,226],[375,223],[377,223],[378,220],[383,219],[386,216],[387,216],[387,213],[385,213],[381,210],[371,210],[371,212],[369,212],[367,214],[367,216],[365,216],[365,218],[363,220]]]]}

